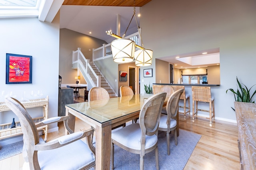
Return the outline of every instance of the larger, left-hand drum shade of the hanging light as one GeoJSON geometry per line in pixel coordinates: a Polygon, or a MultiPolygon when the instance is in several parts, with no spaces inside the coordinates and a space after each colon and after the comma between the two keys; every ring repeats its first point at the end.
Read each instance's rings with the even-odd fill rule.
{"type": "Polygon", "coordinates": [[[130,39],[116,39],[110,44],[113,61],[116,63],[130,63],[134,61],[135,42],[130,39]]]}

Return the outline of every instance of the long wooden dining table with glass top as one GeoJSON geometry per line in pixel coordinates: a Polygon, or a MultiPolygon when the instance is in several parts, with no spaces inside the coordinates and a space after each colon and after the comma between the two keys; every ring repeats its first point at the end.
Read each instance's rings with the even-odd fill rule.
{"type": "MultiPolygon", "coordinates": [[[[75,119],[81,119],[95,130],[96,170],[110,169],[111,131],[128,121],[139,117],[144,102],[153,94],[134,94],[67,104],[68,126],[74,131],[75,119]]],[[[168,99],[165,100],[166,105],[168,99]]],[[[178,128],[177,128],[178,129],[178,128]]],[[[68,132],[66,131],[67,135],[68,132]]]]}

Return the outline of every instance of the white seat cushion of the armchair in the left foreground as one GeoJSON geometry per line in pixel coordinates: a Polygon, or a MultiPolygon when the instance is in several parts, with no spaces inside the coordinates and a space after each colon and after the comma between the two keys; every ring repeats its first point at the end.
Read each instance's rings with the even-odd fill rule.
{"type": "Polygon", "coordinates": [[[64,147],[38,151],[41,170],[76,170],[95,160],[89,147],[81,140],[64,147]]]}

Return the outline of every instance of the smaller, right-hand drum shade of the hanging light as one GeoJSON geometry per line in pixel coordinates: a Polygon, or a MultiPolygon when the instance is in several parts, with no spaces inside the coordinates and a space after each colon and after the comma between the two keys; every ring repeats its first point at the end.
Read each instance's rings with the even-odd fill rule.
{"type": "Polygon", "coordinates": [[[150,66],[152,64],[153,51],[140,49],[135,51],[134,60],[136,66],[150,66]]]}

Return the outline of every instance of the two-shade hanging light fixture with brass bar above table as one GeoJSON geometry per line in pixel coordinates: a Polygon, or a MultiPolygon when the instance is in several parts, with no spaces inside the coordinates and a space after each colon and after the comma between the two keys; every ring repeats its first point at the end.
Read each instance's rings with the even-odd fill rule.
{"type": "Polygon", "coordinates": [[[122,37],[115,35],[111,31],[106,31],[108,35],[111,35],[112,37],[117,38],[116,40],[112,41],[110,44],[112,49],[112,54],[113,54],[113,61],[116,63],[129,63],[135,60],[136,66],[150,66],[152,64],[153,51],[149,49],[144,49],[140,29],[138,26],[138,21],[136,18],[135,0],[134,0],[134,10],[133,10],[132,18],[133,17],[135,17],[135,20],[136,20],[142,47],[140,47],[139,45],[136,45],[136,43],[131,39],[124,39],[126,31],[132,21],[131,19],[122,37]],[[135,47],[138,47],[140,49],[138,51],[135,51],[135,47]]]}

